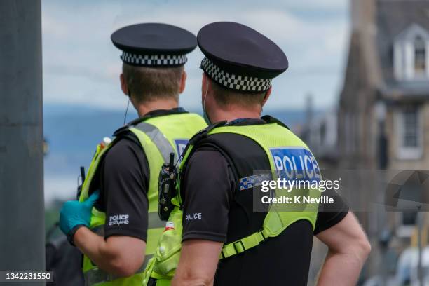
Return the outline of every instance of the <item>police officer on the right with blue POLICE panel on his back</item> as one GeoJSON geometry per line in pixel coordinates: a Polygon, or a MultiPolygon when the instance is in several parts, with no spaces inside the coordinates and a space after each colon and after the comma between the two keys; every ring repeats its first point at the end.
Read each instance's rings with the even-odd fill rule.
{"type": "Polygon", "coordinates": [[[172,285],[307,285],[313,236],[329,248],[319,285],[355,285],[370,246],[341,197],[306,190],[334,203],[270,212],[259,200],[270,172],[257,170],[320,180],[306,144],[280,121],[261,117],[287,57],[235,22],[206,25],[197,41],[205,55],[203,109],[214,124],[191,139],[179,173],[182,253],[172,285]]]}

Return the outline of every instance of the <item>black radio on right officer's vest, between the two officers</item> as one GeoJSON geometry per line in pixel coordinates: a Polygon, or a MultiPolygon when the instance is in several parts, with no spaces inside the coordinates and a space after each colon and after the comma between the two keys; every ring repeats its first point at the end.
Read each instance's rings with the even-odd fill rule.
{"type": "Polygon", "coordinates": [[[176,196],[176,177],[175,154],[170,153],[170,162],[164,163],[158,182],[158,216],[163,221],[168,220],[175,207],[171,199],[176,196]]]}

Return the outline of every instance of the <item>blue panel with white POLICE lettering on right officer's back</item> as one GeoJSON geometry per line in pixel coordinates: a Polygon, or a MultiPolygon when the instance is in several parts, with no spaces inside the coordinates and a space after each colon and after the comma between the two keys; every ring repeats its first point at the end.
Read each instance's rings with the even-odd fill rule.
{"type": "Polygon", "coordinates": [[[320,168],[313,154],[303,147],[278,147],[270,149],[275,171],[280,179],[317,181],[320,168]]]}

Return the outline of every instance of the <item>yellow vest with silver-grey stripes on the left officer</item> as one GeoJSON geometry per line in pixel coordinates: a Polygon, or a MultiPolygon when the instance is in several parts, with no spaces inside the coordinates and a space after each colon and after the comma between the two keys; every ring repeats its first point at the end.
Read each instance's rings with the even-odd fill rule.
{"type": "MultiPolygon", "coordinates": [[[[154,254],[158,238],[161,236],[165,226],[165,222],[161,222],[158,218],[158,176],[161,166],[163,163],[168,162],[168,156],[171,152],[175,153],[175,158],[179,158],[179,154],[181,154],[184,147],[186,147],[189,138],[199,130],[205,128],[205,126],[207,126],[207,124],[198,114],[179,113],[149,117],[142,122],[128,127],[128,130],[134,133],[139,139],[149,165],[149,189],[147,190],[147,198],[149,200],[146,244],[147,258],[154,254]]],[[[100,145],[97,146],[97,151],[93,157],[93,161],[90,163],[85,182],[83,182],[79,201],[88,198],[90,183],[94,178],[102,158],[104,158],[104,155],[118,139],[120,139],[120,137],[116,137],[107,147],[102,148],[100,145]]],[[[90,229],[102,235],[105,219],[105,213],[93,207],[90,229]]],[[[142,285],[143,270],[144,266],[142,266],[135,275],[127,278],[118,278],[97,268],[86,255],[83,256],[83,275],[86,280],[86,285],[140,286],[142,285]]]]}

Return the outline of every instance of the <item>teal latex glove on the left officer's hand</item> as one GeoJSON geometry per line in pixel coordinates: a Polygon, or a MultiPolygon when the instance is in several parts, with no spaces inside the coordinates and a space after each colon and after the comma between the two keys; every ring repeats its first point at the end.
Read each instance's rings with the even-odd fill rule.
{"type": "Polygon", "coordinates": [[[79,203],[78,200],[69,200],[62,205],[60,210],[60,229],[69,238],[72,238],[77,226],[90,226],[91,210],[100,193],[95,191],[87,200],[79,203]]]}

